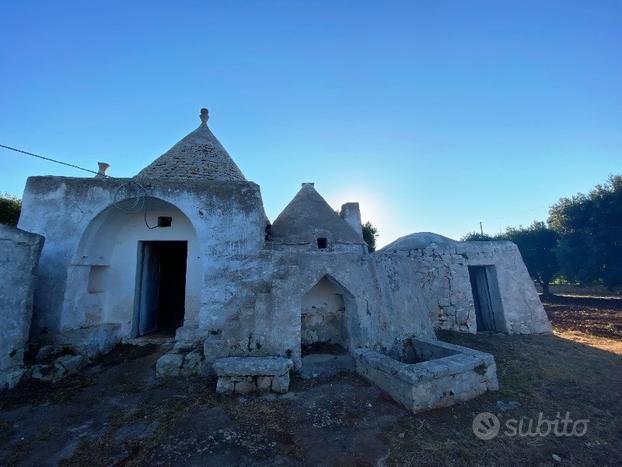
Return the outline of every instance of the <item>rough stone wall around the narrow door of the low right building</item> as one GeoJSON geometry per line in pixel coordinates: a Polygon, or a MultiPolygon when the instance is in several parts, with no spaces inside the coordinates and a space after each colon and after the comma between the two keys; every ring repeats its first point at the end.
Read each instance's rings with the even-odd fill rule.
{"type": "Polygon", "coordinates": [[[406,294],[429,316],[435,329],[477,332],[469,266],[493,266],[502,316],[498,331],[510,334],[550,332],[516,245],[511,242],[453,242],[411,250],[375,254],[387,271],[392,294],[406,294]]]}

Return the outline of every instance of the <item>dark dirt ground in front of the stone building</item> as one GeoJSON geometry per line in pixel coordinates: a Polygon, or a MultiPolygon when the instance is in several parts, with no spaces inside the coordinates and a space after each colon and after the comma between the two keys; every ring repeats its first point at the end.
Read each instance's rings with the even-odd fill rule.
{"type": "Polygon", "coordinates": [[[618,305],[547,303],[549,336],[442,333],[494,354],[501,387],[419,415],[354,374],[294,377],[282,396],[221,396],[213,379],[156,380],[164,348],[120,346],[80,375],[0,396],[0,464],[620,465],[622,352],[610,347],[622,341],[618,305]],[[501,423],[566,412],[589,422],[582,437],[485,441],[472,430],[482,412],[501,423]]]}

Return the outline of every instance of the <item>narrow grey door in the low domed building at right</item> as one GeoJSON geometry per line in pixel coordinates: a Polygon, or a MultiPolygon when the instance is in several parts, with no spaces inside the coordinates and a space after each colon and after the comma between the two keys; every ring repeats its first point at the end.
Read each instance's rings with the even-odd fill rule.
{"type": "Polygon", "coordinates": [[[501,298],[494,266],[469,266],[478,331],[502,331],[501,298]]]}

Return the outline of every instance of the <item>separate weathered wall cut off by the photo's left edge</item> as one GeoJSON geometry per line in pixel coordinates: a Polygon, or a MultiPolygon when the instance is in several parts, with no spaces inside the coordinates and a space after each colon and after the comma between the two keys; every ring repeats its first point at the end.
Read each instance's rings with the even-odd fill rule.
{"type": "Polygon", "coordinates": [[[0,389],[22,376],[43,237],[0,224],[0,389]]]}

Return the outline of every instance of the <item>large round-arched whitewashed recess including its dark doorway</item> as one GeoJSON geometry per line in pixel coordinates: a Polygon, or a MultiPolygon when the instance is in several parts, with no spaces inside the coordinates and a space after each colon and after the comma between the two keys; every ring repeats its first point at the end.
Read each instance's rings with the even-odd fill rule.
{"type": "Polygon", "coordinates": [[[172,334],[196,320],[201,278],[199,243],[188,217],[159,198],[124,200],[84,231],[70,268],[62,327],[113,323],[126,337],[172,334]]]}

